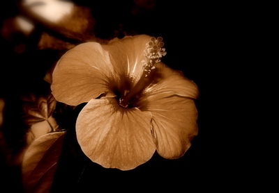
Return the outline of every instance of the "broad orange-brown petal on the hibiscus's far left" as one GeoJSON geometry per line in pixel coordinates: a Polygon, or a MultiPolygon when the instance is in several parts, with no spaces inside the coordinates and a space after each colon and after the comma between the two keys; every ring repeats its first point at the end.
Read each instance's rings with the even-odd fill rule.
{"type": "Polygon", "coordinates": [[[112,64],[100,44],[87,42],[71,49],[52,74],[52,94],[57,101],[78,105],[110,92],[112,64]]]}

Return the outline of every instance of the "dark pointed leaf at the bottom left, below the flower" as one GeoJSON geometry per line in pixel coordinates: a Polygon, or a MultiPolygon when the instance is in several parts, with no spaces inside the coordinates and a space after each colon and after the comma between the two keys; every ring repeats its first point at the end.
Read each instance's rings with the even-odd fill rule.
{"type": "Polygon", "coordinates": [[[50,192],[65,132],[47,133],[34,140],[22,160],[22,182],[26,192],[50,192]]]}

